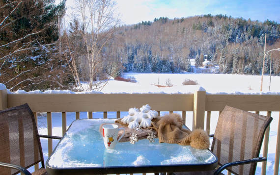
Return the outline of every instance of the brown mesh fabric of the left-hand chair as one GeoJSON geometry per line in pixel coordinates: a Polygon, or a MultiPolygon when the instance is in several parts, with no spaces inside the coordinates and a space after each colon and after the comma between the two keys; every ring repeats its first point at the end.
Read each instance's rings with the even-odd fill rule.
{"type": "MultiPolygon", "coordinates": [[[[40,161],[43,161],[41,143],[28,104],[0,111],[0,162],[28,168],[40,161]]],[[[17,173],[15,169],[0,167],[0,175],[17,173]]]]}

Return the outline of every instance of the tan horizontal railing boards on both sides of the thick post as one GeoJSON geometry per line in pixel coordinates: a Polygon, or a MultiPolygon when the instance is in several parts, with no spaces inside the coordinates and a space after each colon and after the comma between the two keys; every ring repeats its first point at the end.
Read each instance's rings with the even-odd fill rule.
{"type": "MultiPolygon", "coordinates": [[[[128,111],[149,104],[156,111],[193,111],[193,94],[7,94],[7,107],[28,103],[35,112],[128,111]]],[[[205,111],[225,105],[247,111],[280,111],[280,95],[206,94],[205,111]]]]}

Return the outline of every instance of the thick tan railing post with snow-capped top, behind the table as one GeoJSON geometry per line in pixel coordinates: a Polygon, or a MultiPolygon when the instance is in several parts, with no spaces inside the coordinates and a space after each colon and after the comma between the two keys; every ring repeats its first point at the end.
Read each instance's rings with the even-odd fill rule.
{"type": "Polygon", "coordinates": [[[193,130],[196,128],[204,129],[206,91],[200,88],[194,93],[194,111],[193,111],[193,130]]]}

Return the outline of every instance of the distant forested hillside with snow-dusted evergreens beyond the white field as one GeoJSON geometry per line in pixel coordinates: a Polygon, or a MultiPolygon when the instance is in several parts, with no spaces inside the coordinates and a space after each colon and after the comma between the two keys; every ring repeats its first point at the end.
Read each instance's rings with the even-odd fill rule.
{"type": "MultiPolygon", "coordinates": [[[[189,59],[201,66],[204,55],[221,74],[261,73],[266,50],[280,48],[280,25],[211,14],[122,26],[105,53],[122,63],[122,71],[192,72],[189,59]]],[[[265,73],[270,57],[265,60],[265,73]]],[[[272,52],[272,74],[280,75],[280,54],[272,52]]]]}

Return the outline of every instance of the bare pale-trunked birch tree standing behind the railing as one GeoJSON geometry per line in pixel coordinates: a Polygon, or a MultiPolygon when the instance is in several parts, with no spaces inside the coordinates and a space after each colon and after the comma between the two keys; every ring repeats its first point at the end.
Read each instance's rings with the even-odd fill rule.
{"type": "Polygon", "coordinates": [[[114,35],[119,24],[113,0],[76,0],[82,20],[82,35],[88,63],[88,90],[101,90],[104,82],[97,81],[102,72],[102,51],[114,35]]]}

